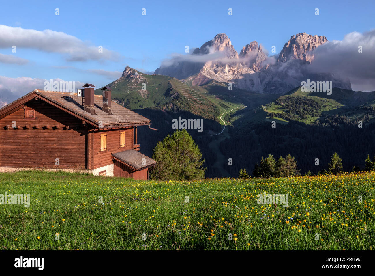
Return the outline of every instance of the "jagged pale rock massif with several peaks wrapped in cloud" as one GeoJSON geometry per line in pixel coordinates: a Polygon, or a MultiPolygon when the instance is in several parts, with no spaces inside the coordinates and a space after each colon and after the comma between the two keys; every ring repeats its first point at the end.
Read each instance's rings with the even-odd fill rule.
{"type": "Polygon", "coordinates": [[[179,57],[171,60],[172,65],[160,66],[154,74],[180,80],[193,78],[196,84],[205,83],[201,79],[214,79],[257,93],[283,94],[308,78],[332,81],[337,87],[351,89],[348,79],[310,70],[309,64],[314,60],[312,52],[327,41],[325,36],[298,33],[291,36],[274,60],[266,56],[257,41],[245,45],[238,54],[229,37],[220,33],[183,59],[179,57]],[[201,62],[194,61],[198,57],[201,62]],[[194,80],[195,77],[198,79],[194,80]]]}

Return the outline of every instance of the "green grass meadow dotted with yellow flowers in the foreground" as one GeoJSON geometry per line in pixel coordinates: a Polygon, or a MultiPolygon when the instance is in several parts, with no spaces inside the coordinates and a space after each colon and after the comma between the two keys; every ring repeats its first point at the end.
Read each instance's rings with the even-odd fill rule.
{"type": "Polygon", "coordinates": [[[139,181],[0,173],[2,250],[371,250],[375,172],[139,181]],[[288,194],[288,207],[257,195],[288,194]]]}

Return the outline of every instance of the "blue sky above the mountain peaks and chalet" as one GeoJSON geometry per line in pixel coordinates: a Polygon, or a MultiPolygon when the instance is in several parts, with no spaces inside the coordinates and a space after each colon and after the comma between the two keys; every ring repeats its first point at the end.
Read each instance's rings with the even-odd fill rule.
{"type": "MultiPolygon", "coordinates": [[[[0,31],[0,54],[20,58],[16,63],[0,63],[0,76],[61,78],[100,87],[120,77],[126,66],[154,71],[172,53],[185,54],[185,45],[200,47],[217,33],[226,33],[238,52],[256,40],[269,52],[275,45],[279,53],[290,36],[300,32],[324,35],[329,41],[342,40],[354,31],[368,32],[374,29],[374,11],[374,1],[4,2],[0,25],[63,32],[81,41],[80,47],[102,45],[111,54],[71,60],[69,53],[75,49],[69,43],[66,52],[54,51],[34,45],[32,35],[12,53],[12,45],[1,44],[0,31]],[[60,15],[55,15],[56,8],[60,15]],[[229,8],[233,15],[228,15],[229,8]]],[[[64,38],[59,44],[65,47],[64,38]]]]}

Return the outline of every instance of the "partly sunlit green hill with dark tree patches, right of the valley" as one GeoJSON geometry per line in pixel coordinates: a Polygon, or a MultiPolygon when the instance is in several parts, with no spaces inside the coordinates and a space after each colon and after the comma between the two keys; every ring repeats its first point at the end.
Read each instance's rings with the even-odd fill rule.
{"type": "Polygon", "coordinates": [[[375,92],[356,92],[333,88],[325,92],[302,92],[300,87],[274,101],[249,110],[245,120],[260,122],[272,118],[280,122],[300,121],[313,124],[329,116],[344,116],[349,121],[374,120],[375,92]]]}

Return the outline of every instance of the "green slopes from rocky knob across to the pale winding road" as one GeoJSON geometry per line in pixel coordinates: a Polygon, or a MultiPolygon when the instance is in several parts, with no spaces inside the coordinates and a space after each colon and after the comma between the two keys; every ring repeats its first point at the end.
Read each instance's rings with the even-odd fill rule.
{"type": "MultiPolygon", "coordinates": [[[[191,81],[180,81],[164,75],[148,75],[126,67],[123,76],[106,85],[111,87],[112,100],[131,110],[154,108],[159,110],[190,112],[223,124],[219,117],[228,110],[241,106],[255,107],[268,103],[279,95],[256,94],[246,90],[229,90],[224,83],[210,81],[193,86],[191,81]]],[[[102,87],[101,87],[102,88],[102,87]]],[[[101,88],[95,94],[102,94],[101,88]]]]}

